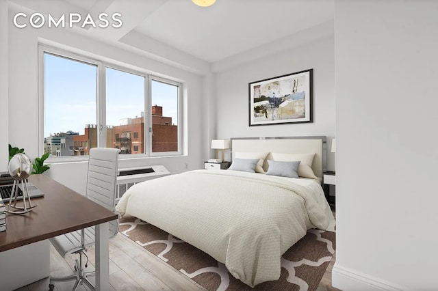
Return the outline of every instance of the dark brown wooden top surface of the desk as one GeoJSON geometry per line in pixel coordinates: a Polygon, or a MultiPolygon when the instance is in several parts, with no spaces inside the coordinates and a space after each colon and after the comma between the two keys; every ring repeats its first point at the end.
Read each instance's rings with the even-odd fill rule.
{"type": "Polygon", "coordinates": [[[34,183],[44,197],[32,198],[32,205],[38,206],[27,214],[6,215],[6,231],[0,232],[0,251],[118,218],[107,208],[44,174],[31,175],[29,182],[34,183]]]}

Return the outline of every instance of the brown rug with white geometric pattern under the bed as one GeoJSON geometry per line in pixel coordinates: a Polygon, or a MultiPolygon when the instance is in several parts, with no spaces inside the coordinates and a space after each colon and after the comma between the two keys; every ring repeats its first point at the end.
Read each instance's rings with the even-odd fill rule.
{"type": "Polygon", "coordinates": [[[120,233],[211,291],[316,290],[335,253],[334,232],[308,230],[282,255],[280,279],[250,288],[224,264],[158,227],[129,215],[119,221],[120,233]]]}

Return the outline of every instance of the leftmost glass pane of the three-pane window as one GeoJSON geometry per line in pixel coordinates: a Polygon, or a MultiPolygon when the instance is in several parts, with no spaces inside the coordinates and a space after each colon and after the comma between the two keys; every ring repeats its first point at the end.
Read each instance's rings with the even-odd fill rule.
{"type": "MultiPolygon", "coordinates": [[[[96,126],[90,126],[96,124],[96,98],[97,66],[44,53],[44,137],[47,141],[65,137],[69,145],[87,140],[97,146],[96,126]],[[68,135],[68,130],[77,135],[68,135]]],[[[60,156],[56,152],[58,145],[46,143],[44,152],[60,156]]],[[[68,154],[80,156],[88,152],[76,147],[68,154]]]]}

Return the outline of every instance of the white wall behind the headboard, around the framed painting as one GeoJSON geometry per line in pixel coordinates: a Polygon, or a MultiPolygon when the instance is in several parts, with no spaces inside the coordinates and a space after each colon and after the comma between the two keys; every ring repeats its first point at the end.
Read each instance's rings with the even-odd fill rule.
{"type": "MultiPolygon", "coordinates": [[[[333,23],[332,23],[333,24],[333,23]]],[[[329,149],[335,137],[335,59],[333,35],[217,73],[217,135],[293,137],[325,135],[329,149]],[[248,83],[313,68],[313,122],[248,126],[248,83]]],[[[327,169],[335,169],[329,153],[327,169]]]]}

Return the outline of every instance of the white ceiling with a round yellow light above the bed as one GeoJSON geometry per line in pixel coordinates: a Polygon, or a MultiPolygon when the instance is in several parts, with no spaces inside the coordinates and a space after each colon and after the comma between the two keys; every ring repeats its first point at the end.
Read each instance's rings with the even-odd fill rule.
{"type": "MultiPolygon", "coordinates": [[[[191,0],[10,0],[51,14],[119,12],[119,29],[81,29],[111,42],[144,38],[214,63],[333,21],[333,0],[216,0],[201,8],[191,0]]],[[[95,18],[97,19],[97,18],[95,18]]]]}

